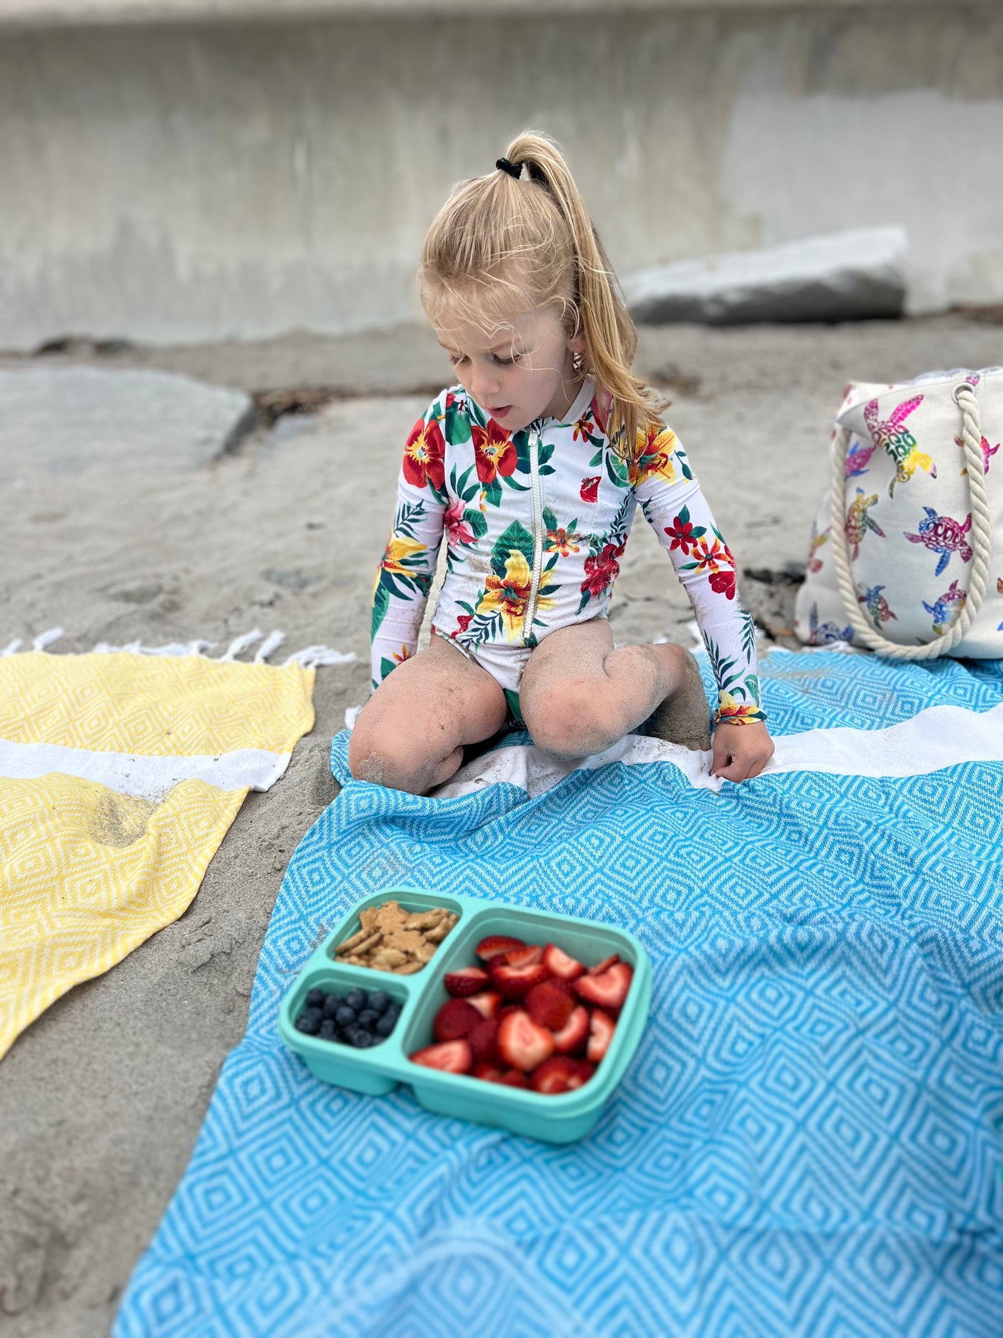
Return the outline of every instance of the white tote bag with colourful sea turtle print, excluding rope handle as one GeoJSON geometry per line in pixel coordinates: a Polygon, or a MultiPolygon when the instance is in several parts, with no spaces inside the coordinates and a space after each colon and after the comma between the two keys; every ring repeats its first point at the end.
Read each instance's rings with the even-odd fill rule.
{"type": "MultiPolygon", "coordinates": [[[[840,460],[832,460],[829,476],[868,625],[885,641],[919,648],[944,644],[964,617],[968,626],[959,641],[948,641],[948,654],[1003,658],[1003,586],[996,583],[1003,553],[1003,368],[931,372],[896,385],[851,383],[836,415],[833,452],[837,439],[840,460]],[[968,475],[975,460],[968,463],[964,448],[959,399],[975,413],[972,446],[979,442],[988,507],[991,566],[980,605],[971,597],[978,514],[968,475]],[[865,594],[875,590],[895,617],[875,621],[865,594]]],[[[832,511],[829,492],[812,522],[805,581],[796,597],[794,632],[808,645],[826,644],[849,624],[836,582],[832,511]]],[[[880,611],[873,594],[872,603],[880,611]]],[[[864,641],[860,633],[856,640],[864,641]]]]}

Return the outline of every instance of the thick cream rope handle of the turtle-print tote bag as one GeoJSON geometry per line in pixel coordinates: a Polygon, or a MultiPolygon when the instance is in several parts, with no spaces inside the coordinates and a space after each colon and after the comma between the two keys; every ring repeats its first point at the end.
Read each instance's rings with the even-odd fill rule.
{"type": "Polygon", "coordinates": [[[849,566],[849,550],[847,546],[847,523],[844,508],[847,504],[847,451],[849,450],[851,431],[840,427],[836,432],[836,443],[832,456],[832,510],[829,515],[829,539],[832,542],[832,558],[836,566],[836,585],[847,617],[853,632],[872,650],[889,660],[936,660],[945,656],[966,636],[982,607],[986,594],[986,578],[990,569],[990,549],[992,545],[992,529],[990,520],[990,507],[986,498],[986,480],[982,464],[982,417],[979,401],[968,381],[955,385],[951,392],[955,404],[962,411],[962,439],[964,443],[964,462],[968,467],[968,492],[972,506],[972,577],[968,583],[968,598],[960,617],[944,637],[928,642],[923,646],[900,646],[895,641],[888,641],[876,632],[864,617],[857,599],[857,590],[849,566]]]}

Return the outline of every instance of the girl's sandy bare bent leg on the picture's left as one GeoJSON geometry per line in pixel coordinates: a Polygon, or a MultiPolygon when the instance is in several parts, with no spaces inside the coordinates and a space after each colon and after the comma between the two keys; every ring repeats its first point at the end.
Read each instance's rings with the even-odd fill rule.
{"type": "Polygon", "coordinates": [[[506,721],[506,696],[441,637],[397,665],[362,708],[348,745],[356,780],[424,795],[463,761],[463,745],[506,721]]]}

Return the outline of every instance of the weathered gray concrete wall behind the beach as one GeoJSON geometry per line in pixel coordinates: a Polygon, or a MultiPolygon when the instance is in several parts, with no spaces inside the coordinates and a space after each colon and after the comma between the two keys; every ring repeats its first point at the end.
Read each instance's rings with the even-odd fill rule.
{"type": "Polygon", "coordinates": [[[901,222],[915,310],[1003,301],[1003,5],[471,8],[0,8],[0,348],[411,320],[432,215],[527,126],[622,273],[901,222]]]}

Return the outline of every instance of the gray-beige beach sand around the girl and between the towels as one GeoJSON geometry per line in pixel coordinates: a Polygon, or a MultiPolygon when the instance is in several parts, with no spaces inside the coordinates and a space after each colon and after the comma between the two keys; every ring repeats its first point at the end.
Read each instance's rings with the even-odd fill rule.
{"type": "MultiPolygon", "coordinates": [[[[37,472],[21,460],[13,482],[0,484],[0,645],[55,625],[67,637],[53,652],[96,641],[225,642],[258,626],[282,628],[290,649],[325,642],[358,660],[318,672],[313,733],[270,792],[249,796],[189,913],[55,1004],[0,1064],[4,1335],[106,1334],[185,1171],[219,1066],[245,1028],[282,872],[334,797],[330,737],[368,693],[372,573],[401,446],[449,379],[432,345],[425,332],[399,330],[198,349],[78,347],[45,359],[345,397],[262,423],[199,470],[170,472],[151,459],[114,478],[37,472]],[[346,397],[352,391],[364,395],[346,397]]],[[[638,367],[674,387],[669,420],[740,569],[782,573],[805,559],[828,420],[847,379],[998,360],[999,328],[955,316],[649,329],[638,367]]],[[[790,644],[794,587],[748,577],[740,585],[760,621],[790,644]]],[[[621,642],[690,641],[689,605],[641,518],[611,617],[621,642]]]]}

